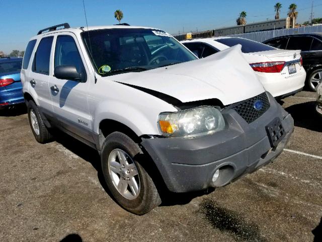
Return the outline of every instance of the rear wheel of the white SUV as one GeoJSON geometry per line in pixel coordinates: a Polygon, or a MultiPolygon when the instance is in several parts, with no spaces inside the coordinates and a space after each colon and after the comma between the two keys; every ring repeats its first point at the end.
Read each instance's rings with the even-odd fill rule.
{"type": "Polygon", "coordinates": [[[47,127],[44,124],[39,109],[34,103],[34,101],[28,102],[28,119],[32,133],[34,134],[35,139],[41,143],[45,144],[52,139],[52,135],[49,133],[47,127]],[[34,122],[37,122],[35,125],[34,122]],[[38,129],[36,128],[38,126],[38,129]]]}

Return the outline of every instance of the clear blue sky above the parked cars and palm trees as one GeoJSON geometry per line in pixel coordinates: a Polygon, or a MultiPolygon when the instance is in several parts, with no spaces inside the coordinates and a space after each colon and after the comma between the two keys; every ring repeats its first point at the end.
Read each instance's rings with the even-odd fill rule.
{"type": "MultiPolygon", "coordinates": [[[[241,11],[247,22],[274,19],[274,5],[282,4],[281,18],[288,6],[297,5],[298,23],[309,20],[311,0],[84,0],[89,26],[117,24],[114,12],[122,10],[121,22],[163,29],[171,34],[203,31],[236,25],[241,11]]],[[[314,17],[322,17],[322,0],[314,0],[314,17]]],[[[0,50],[9,54],[24,50],[29,39],[40,29],[61,23],[86,26],[83,0],[0,0],[0,50]]]]}

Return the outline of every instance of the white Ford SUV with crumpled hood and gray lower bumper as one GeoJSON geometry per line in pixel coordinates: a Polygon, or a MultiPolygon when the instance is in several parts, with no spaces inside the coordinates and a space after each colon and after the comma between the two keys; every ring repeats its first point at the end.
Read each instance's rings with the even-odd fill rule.
{"type": "Polygon", "coordinates": [[[255,171],[293,132],[240,45],[197,59],[153,28],[41,30],[21,79],[36,140],[55,127],[97,149],[112,195],[135,214],[161,203],[160,188],[206,190],[255,171]]]}

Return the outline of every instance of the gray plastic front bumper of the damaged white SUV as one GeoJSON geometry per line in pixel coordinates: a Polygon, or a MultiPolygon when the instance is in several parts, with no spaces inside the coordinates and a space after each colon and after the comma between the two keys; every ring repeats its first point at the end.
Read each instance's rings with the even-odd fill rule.
{"type": "Polygon", "coordinates": [[[293,118],[270,94],[269,99],[270,108],[251,124],[233,109],[226,109],[222,112],[227,124],[223,131],[196,138],[144,139],[141,145],[172,192],[207,189],[215,170],[229,166],[231,172],[221,184],[224,186],[272,161],[287,144],[294,129],[293,118]],[[265,127],[275,117],[281,119],[286,136],[272,149],[265,127]]]}

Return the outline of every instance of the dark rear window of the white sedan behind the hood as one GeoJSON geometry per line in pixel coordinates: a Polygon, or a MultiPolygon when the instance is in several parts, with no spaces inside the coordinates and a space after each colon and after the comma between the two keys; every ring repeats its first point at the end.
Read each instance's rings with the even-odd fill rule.
{"type": "Polygon", "coordinates": [[[243,38],[223,38],[223,39],[216,39],[215,41],[222,43],[224,45],[227,45],[229,47],[232,47],[236,44],[241,44],[241,52],[243,53],[252,53],[252,52],[276,49],[266,44],[262,44],[256,41],[243,39],[243,38]]]}

